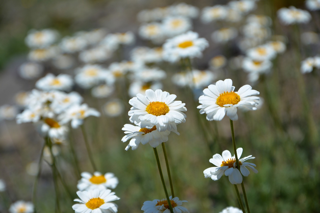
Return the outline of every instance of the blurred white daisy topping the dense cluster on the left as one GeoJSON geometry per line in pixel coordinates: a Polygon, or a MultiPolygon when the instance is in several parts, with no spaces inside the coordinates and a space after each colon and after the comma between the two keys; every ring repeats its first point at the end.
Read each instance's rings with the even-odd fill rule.
{"type": "Polygon", "coordinates": [[[54,76],[52,73],[48,73],[43,78],[40,78],[36,82],[36,88],[44,91],[49,90],[62,90],[70,91],[73,86],[73,80],[70,75],[60,74],[54,76]]]}

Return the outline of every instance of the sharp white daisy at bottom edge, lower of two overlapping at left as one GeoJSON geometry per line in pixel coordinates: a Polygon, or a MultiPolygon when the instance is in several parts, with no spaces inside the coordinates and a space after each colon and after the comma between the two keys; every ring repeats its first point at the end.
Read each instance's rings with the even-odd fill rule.
{"type": "Polygon", "coordinates": [[[76,213],[116,213],[118,206],[111,201],[119,200],[120,198],[111,192],[110,189],[101,190],[95,189],[90,191],[80,192],[77,191],[80,199],[74,201],[80,202],[75,204],[72,209],[76,213]]]}

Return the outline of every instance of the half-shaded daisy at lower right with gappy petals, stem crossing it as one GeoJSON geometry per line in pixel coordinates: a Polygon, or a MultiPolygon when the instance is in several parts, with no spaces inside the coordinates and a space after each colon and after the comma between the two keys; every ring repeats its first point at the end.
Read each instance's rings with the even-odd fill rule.
{"type": "MultiPolygon", "coordinates": [[[[241,157],[243,149],[237,148],[238,158],[241,157]]],[[[247,177],[250,174],[250,171],[246,168],[249,167],[254,173],[258,173],[254,167],[256,166],[254,163],[245,162],[246,160],[254,159],[252,155],[239,159],[240,171],[236,165],[235,156],[231,156],[231,153],[228,150],[222,152],[222,156],[220,154],[215,154],[209,160],[210,163],[214,164],[217,167],[210,167],[203,171],[204,177],[210,177],[212,180],[219,180],[223,174],[229,177],[229,181],[232,184],[241,184],[242,183],[242,175],[247,177]],[[242,175],[241,175],[242,174],[242,175]]]]}

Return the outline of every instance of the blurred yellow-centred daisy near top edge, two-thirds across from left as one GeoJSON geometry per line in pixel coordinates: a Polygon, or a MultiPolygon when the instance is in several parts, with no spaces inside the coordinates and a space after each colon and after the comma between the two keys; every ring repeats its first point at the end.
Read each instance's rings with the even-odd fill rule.
{"type": "Polygon", "coordinates": [[[205,7],[201,12],[201,20],[209,23],[214,20],[224,20],[227,18],[228,8],[223,5],[215,5],[213,7],[205,7]]]}

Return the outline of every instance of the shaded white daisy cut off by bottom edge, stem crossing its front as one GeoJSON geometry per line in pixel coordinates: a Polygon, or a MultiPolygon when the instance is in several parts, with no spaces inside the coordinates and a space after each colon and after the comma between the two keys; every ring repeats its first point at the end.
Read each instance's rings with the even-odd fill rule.
{"type": "MultiPolygon", "coordinates": [[[[182,202],[188,201],[180,201],[178,197],[172,198],[172,196],[169,199],[174,213],[189,213],[188,209],[182,207],[182,202]]],[[[141,210],[144,213],[170,213],[167,199],[145,201],[141,210]]]]}

